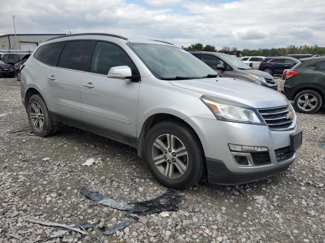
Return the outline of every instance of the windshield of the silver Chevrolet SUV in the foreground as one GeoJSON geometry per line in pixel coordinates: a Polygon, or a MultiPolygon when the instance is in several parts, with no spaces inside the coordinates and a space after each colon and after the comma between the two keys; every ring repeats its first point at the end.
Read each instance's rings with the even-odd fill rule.
{"type": "Polygon", "coordinates": [[[156,44],[127,44],[159,79],[194,79],[217,73],[192,54],[177,47],[156,44]]]}

